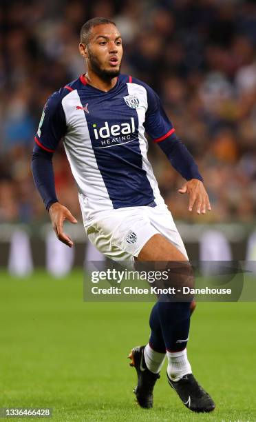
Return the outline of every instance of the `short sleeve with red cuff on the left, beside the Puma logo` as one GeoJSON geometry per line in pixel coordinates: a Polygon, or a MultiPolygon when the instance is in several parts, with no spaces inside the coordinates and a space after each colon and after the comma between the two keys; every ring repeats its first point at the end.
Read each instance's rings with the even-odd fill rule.
{"type": "Polygon", "coordinates": [[[37,145],[47,152],[54,152],[67,130],[65,113],[59,92],[54,92],[43,108],[39,128],[34,140],[37,145]]]}

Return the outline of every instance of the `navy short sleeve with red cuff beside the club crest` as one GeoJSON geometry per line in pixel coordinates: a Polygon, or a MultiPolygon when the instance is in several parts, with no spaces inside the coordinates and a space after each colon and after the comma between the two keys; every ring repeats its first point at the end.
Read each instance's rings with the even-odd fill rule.
{"type": "Polygon", "coordinates": [[[163,141],[173,134],[175,129],[162,108],[158,94],[149,86],[145,88],[147,90],[148,103],[144,124],[145,130],[155,142],[163,141]]]}

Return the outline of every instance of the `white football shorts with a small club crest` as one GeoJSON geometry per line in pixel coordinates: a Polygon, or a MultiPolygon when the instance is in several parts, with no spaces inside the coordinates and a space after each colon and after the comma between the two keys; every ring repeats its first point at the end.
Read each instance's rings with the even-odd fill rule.
{"type": "Polygon", "coordinates": [[[94,214],[85,227],[89,241],[114,261],[132,261],[154,234],[162,234],[184,254],[186,249],[167,205],[127,207],[94,214]]]}

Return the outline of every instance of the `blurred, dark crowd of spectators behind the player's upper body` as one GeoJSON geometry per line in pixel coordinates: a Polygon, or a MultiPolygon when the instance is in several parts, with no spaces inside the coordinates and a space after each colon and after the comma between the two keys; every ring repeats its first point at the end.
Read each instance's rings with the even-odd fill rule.
{"type": "MultiPolygon", "coordinates": [[[[122,72],[158,92],[198,161],[213,211],[205,221],[245,221],[256,210],[256,1],[24,0],[0,2],[0,222],[48,219],[30,170],[47,97],[85,72],[78,34],[92,17],[114,19],[122,72]]],[[[149,159],[175,219],[189,215],[182,178],[149,141],[149,159]]],[[[58,198],[80,216],[60,145],[58,198]]],[[[81,217],[80,217],[81,220],[81,217]]],[[[200,219],[202,221],[202,217],[200,219]]]]}

